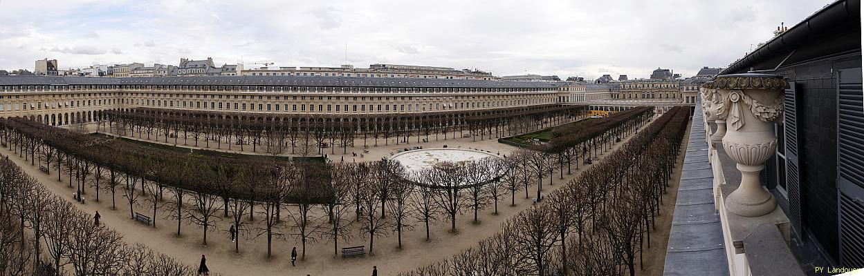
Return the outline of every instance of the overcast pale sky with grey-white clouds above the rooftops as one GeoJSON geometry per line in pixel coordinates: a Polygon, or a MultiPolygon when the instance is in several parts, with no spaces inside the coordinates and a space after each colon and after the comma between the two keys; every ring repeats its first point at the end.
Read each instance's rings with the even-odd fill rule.
{"type": "Polygon", "coordinates": [[[829,0],[0,0],[0,69],[181,57],[245,67],[477,68],[495,75],[647,78],[725,67],[829,0]],[[346,47],[347,46],[347,47],[346,47]]]}

